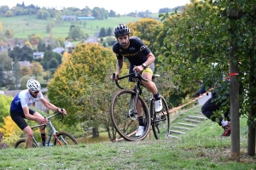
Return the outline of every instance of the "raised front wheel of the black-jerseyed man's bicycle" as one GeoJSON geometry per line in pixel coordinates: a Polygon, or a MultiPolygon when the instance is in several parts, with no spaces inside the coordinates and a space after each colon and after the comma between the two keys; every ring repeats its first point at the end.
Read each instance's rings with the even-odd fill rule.
{"type": "Polygon", "coordinates": [[[134,114],[135,92],[129,89],[121,90],[113,96],[110,107],[110,116],[113,122],[113,127],[119,133],[119,138],[122,137],[125,140],[137,141],[144,139],[149,131],[150,116],[148,107],[145,101],[138,96],[138,103],[142,105],[144,132],[141,136],[136,136],[137,133],[137,114],[134,114]]]}

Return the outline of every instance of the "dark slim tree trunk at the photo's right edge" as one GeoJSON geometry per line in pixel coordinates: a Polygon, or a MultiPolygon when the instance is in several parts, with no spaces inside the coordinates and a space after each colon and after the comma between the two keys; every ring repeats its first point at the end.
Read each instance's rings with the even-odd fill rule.
{"type": "MultiPolygon", "coordinates": [[[[250,101],[254,101],[256,99],[255,93],[253,89],[255,88],[255,76],[254,76],[254,69],[255,69],[255,60],[253,60],[253,52],[251,51],[250,55],[250,85],[249,85],[249,99],[250,101]]],[[[256,105],[254,102],[251,102],[251,111],[249,117],[255,117],[256,116],[256,105]]],[[[248,141],[247,141],[247,154],[249,156],[255,156],[255,127],[254,125],[248,126],[248,141]]]]}

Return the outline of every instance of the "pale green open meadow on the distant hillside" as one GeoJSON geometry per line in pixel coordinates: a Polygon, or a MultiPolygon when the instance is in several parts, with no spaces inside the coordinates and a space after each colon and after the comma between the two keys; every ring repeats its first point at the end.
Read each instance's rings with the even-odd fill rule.
{"type": "MultiPolygon", "coordinates": [[[[139,19],[139,17],[129,16],[121,16],[119,18],[108,17],[107,20],[83,20],[87,23],[86,27],[80,26],[79,22],[76,23],[76,26],[80,26],[84,33],[93,36],[94,33],[100,31],[102,27],[110,27],[113,29],[113,27],[119,23],[135,22],[139,19]]],[[[28,35],[32,34],[40,34],[43,37],[49,37],[50,33],[46,32],[46,26],[52,20],[53,18],[49,18],[49,20],[38,20],[35,14],[8,18],[0,17],[0,22],[2,22],[3,25],[3,33],[7,29],[11,29],[15,34],[14,37],[17,38],[27,38],[28,35]]],[[[71,22],[63,22],[61,25],[55,25],[51,32],[53,37],[67,37],[71,24],[71,22]]]]}

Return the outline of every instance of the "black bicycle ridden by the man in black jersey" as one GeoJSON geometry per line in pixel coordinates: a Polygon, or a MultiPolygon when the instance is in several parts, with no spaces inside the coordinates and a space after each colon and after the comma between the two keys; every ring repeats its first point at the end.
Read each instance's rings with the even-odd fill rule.
{"type": "MultiPolygon", "coordinates": [[[[114,76],[114,74],[113,74],[114,76]]],[[[160,77],[154,75],[153,78],[160,77]]],[[[160,112],[154,110],[154,97],[150,94],[150,103],[148,111],[148,105],[143,99],[142,86],[143,82],[148,82],[144,79],[140,73],[136,71],[124,77],[118,77],[115,81],[116,85],[121,89],[118,93],[113,96],[110,106],[110,116],[113,122],[113,127],[119,133],[120,137],[129,140],[137,141],[144,139],[152,126],[155,139],[168,139],[170,133],[170,116],[166,99],[160,96],[162,99],[163,109],[160,112]],[[125,77],[134,77],[135,85],[132,89],[124,89],[119,85],[119,80],[125,77]],[[144,132],[141,136],[136,136],[137,133],[137,114],[138,110],[143,113],[144,121],[144,132]]]]}

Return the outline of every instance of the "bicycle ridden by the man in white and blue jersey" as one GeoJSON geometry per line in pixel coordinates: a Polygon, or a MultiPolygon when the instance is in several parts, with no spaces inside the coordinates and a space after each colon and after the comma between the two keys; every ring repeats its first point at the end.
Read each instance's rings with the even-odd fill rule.
{"type": "MultiPolygon", "coordinates": [[[[72,134],[67,133],[67,132],[58,132],[56,131],[55,127],[53,126],[52,122],[50,122],[50,119],[54,116],[57,115],[61,115],[61,119],[60,121],[63,120],[63,114],[61,114],[60,112],[55,113],[52,116],[46,117],[48,119],[48,123],[47,124],[41,124],[41,125],[37,125],[37,126],[33,126],[31,127],[32,130],[38,128],[38,127],[47,127],[49,126],[49,135],[48,138],[45,141],[46,146],[52,146],[52,145],[73,145],[73,144],[78,144],[78,141],[73,137],[72,134]],[[51,143],[51,137],[53,136],[53,143],[51,143]]],[[[32,138],[32,147],[37,148],[39,147],[40,143],[37,141],[37,139],[35,139],[34,137],[32,138]]],[[[16,143],[15,143],[15,148],[21,148],[24,149],[26,145],[26,139],[19,139],[16,143]]]]}

